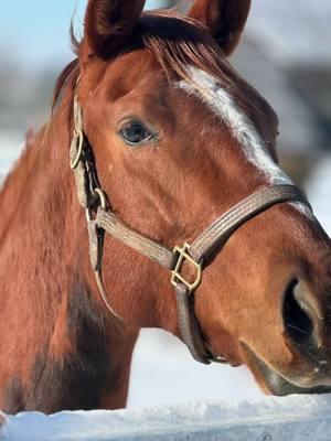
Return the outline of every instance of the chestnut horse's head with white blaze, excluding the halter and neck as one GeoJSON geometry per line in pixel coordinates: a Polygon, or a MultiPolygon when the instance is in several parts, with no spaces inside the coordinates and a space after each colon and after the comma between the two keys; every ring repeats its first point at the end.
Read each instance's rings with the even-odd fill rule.
{"type": "MultiPolygon", "coordinates": [[[[76,97],[111,211],[173,248],[249,195],[292,183],[275,111],[228,62],[250,1],[196,0],[188,15],[143,6],[89,0],[76,97]]],[[[180,336],[169,273],[115,238],[104,260],[118,314],[180,336]]],[[[330,239],[307,205],[288,202],[213,250],[192,303],[212,354],[286,395],[331,386],[330,294],[330,239]]]]}

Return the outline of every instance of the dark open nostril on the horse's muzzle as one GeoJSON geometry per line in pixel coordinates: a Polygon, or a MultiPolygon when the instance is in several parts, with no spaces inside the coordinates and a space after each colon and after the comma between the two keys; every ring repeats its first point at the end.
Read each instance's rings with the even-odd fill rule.
{"type": "Polygon", "coordinates": [[[309,343],[313,333],[313,321],[309,315],[308,305],[297,295],[298,279],[292,280],[284,297],[282,319],[288,336],[302,345],[309,343]]]}

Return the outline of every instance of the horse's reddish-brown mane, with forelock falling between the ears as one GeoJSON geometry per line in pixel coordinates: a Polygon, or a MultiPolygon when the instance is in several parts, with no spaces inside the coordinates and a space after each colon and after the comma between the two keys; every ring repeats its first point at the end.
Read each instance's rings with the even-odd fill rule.
{"type": "MultiPolygon", "coordinates": [[[[53,109],[64,88],[67,86],[74,88],[79,77],[78,54],[82,42],[75,37],[73,25],[71,25],[71,42],[77,58],[72,61],[57,78],[53,109]]],[[[194,84],[192,71],[189,68],[191,66],[215,76],[226,89],[239,93],[237,73],[229,66],[222,50],[201,22],[181,15],[174,10],[145,12],[131,42],[122,53],[142,47],[154,55],[168,78],[177,74],[179,79],[194,84]]]]}

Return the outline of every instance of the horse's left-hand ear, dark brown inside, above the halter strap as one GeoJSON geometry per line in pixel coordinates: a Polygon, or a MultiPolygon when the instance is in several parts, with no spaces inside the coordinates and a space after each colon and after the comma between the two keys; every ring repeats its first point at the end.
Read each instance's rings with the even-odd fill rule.
{"type": "Polygon", "coordinates": [[[120,50],[143,10],[145,0],[89,0],[84,26],[86,55],[108,57],[120,50]]]}

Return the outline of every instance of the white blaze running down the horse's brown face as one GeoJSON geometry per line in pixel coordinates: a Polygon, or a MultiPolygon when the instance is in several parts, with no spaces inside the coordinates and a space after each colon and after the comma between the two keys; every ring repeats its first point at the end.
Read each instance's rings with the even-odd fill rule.
{"type": "MultiPolygon", "coordinates": [[[[200,97],[214,114],[221,117],[241,143],[246,159],[266,176],[270,184],[292,184],[290,178],[270,157],[254,122],[238,108],[234,98],[222,87],[217,79],[193,66],[188,66],[188,73],[192,78],[192,83],[182,79],[175,86],[190,95],[200,97]]],[[[307,211],[310,212],[306,205],[295,204],[297,208],[300,208],[306,214],[307,211]]]]}

